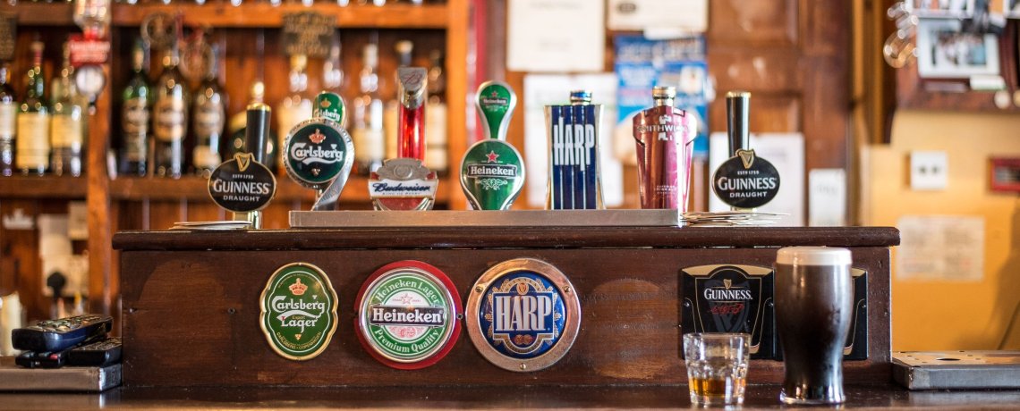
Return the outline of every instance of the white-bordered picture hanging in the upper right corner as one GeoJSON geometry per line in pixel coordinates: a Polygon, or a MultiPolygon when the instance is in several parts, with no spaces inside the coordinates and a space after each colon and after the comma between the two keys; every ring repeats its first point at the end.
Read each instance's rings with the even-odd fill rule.
{"type": "Polygon", "coordinates": [[[960,32],[960,20],[922,18],[917,24],[917,72],[926,78],[999,74],[999,39],[960,32]]]}

